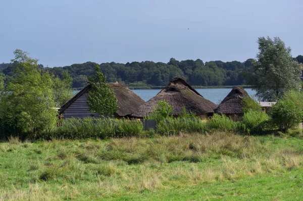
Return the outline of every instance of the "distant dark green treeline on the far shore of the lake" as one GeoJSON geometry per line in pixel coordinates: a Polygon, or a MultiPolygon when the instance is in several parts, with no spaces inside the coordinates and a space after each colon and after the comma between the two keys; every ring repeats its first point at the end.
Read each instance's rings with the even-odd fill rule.
{"type": "MultiPolygon", "coordinates": [[[[303,63],[303,56],[294,58],[303,63]]],[[[245,85],[244,75],[251,70],[254,59],[244,62],[220,60],[203,62],[201,59],[178,61],[171,58],[168,63],[142,61],[127,63],[101,63],[100,68],[108,82],[125,83],[130,87],[165,86],[175,76],[183,77],[195,86],[236,86],[245,85]]],[[[13,75],[16,63],[0,63],[0,71],[13,75]]],[[[85,62],[64,67],[44,68],[58,77],[67,71],[73,78],[73,88],[82,88],[87,84],[87,77],[94,74],[96,63],[85,62]]],[[[43,65],[39,65],[43,68],[43,65]]]]}

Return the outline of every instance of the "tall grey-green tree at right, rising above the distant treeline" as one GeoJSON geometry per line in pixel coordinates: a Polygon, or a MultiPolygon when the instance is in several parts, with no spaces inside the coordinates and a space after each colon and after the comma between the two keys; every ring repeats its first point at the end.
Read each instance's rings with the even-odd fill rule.
{"type": "Polygon", "coordinates": [[[301,69],[290,47],[278,37],[258,39],[259,52],[248,84],[265,101],[277,101],[288,90],[300,87],[301,69]]]}

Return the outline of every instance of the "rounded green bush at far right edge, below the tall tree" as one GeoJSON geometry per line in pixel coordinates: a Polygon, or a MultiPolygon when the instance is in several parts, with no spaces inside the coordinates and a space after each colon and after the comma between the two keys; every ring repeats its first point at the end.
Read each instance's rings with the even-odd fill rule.
{"type": "Polygon", "coordinates": [[[289,128],[295,128],[302,122],[303,111],[299,109],[294,102],[289,99],[279,100],[270,110],[273,123],[281,131],[289,128]]]}

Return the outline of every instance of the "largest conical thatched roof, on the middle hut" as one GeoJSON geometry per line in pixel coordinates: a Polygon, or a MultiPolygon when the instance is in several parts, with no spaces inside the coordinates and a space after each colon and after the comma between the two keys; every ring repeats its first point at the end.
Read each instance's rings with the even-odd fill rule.
{"type": "Polygon", "coordinates": [[[173,105],[173,115],[179,115],[182,107],[197,115],[213,113],[214,109],[217,108],[215,103],[201,96],[183,78],[173,78],[163,90],[141,105],[131,116],[142,118],[150,114],[159,100],[166,100],[173,105]]]}

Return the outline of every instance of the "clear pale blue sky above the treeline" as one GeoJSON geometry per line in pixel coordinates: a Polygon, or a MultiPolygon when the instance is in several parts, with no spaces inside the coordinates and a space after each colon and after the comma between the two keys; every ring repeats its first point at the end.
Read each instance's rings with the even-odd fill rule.
{"type": "Polygon", "coordinates": [[[260,36],[303,54],[301,0],[0,0],[0,63],[15,49],[44,66],[86,61],[245,61],[260,36]]]}

